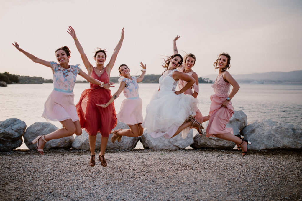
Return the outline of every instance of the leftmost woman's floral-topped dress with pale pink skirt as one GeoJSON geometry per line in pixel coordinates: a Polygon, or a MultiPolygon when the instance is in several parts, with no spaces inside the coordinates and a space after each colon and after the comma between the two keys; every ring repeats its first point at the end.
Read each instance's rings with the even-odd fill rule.
{"type": "Polygon", "coordinates": [[[76,76],[80,72],[79,64],[62,68],[60,64],[50,61],[53,69],[53,91],[48,96],[42,117],[47,121],[64,121],[71,119],[78,121],[76,106],[74,104],[73,88],[76,76]]]}

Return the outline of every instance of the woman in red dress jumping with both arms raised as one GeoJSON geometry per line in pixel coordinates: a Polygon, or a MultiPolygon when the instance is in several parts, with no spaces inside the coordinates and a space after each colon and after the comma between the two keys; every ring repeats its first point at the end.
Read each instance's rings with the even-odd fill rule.
{"type": "Polygon", "coordinates": [[[104,104],[111,99],[111,92],[109,87],[112,87],[114,83],[109,82],[110,72],[113,68],[114,62],[117,58],[117,54],[120,51],[124,40],[124,28],[122,29],[120,41],[115,47],[109,63],[104,67],[107,55],[104,50],[99,49],[95,52],[94,59],[96,66],[94,67],[84,53],[84,50],[76,37],[76,32],[72,27],[68,28],[67,31],[76,43],[76,47],[81,54],[82,61],[88,71],[88,75],[104,82],[104,87],[90,84],[90,89],[86,89],[82,92],[79,102],[76,104],[78,116],[80,119],[81,127],[84,128],[89,135],[89,146],[90,146],[90,166],[95,165],[95,141],[96,134],[101,133],[101,152],[98,155],[101,165],[107,166],[105,160],[105,150],[107,141],[111,130],[117,124],[116,111],[114,103],[110,104],[106,108],[97,106],[97,104],[104,104]]]}

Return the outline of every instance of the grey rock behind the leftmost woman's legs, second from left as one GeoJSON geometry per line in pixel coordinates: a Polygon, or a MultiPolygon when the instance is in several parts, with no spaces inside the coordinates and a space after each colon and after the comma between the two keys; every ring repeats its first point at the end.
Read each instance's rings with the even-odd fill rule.
{"type": "MultiPolygon", "coordinates": [[[[49,122],[35,122],[31,126],[27,127],[24,133],[24,143],[28,147],[28,149],[36,149],[37,144],[31,143],[37,136],[39,135],[47,135],[52,133],[53,131],[58,130],[58,128],[49,123],[49,122]]],[[[44,149],[70,149],[71,144],[75,138],[73,136],[63,137],[55,140],[48,141],[44,149]]]]}

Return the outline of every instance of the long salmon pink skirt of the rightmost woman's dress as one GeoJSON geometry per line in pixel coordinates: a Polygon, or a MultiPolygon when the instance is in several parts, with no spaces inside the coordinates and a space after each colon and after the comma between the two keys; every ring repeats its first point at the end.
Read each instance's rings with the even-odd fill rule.
{"type": "Polygon", "coordinates": [[[211,95],[210,119],[207,125],[206,137],[217,134],[233,134],[233,128],[226,128],[226,124],[229,123],[230,118],[234,114],[232,102],[230,101],[226,108],[221,107],[221,104],[226,98],[227,96],[218,96],[217,94],[211,95]]]}

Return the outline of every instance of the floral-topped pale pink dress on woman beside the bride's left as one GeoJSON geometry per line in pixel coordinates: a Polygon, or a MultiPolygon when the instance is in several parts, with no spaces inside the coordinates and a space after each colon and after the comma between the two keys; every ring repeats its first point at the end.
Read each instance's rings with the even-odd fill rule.
{"type": "Polygon", "coordinates": [[[124,122],[127,125],[135,125],[143,123],[142,105],[143,101],[138,96],[138,83],[136,77],[131,77],[132,80],[126,77],[120,77],[118,82],[125,82],[126,86],[123,89],[127,99],[123,100],[120,106],[120,112],[117,114],[117,120],[124,122]]]}

